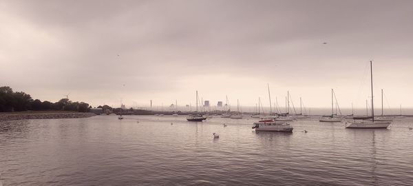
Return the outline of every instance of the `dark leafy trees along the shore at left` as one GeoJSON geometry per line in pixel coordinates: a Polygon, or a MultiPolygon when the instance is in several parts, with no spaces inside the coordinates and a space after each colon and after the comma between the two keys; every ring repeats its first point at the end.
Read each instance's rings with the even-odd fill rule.
{"type": "Polygon", "coordinates": [[[0,112],[21,112],[27,110],[65,110],[76,112],[89,112],[91,106],[84,102],[72,102],[61,99],[56,103],[32,99],[25,92],[13,92],[8,86],[0,87],[0,112]]]}

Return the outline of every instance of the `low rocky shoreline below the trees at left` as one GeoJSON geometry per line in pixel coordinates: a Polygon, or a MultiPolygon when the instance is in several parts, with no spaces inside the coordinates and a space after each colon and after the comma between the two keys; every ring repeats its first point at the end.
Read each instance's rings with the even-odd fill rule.
{"type": "Polygon", "coordinates": [[[0,122],[22,120],[22,119],[89,118],[92,116],[96,116],[96,114],[91,113],[91,112],[0,114],[0,122]]]}

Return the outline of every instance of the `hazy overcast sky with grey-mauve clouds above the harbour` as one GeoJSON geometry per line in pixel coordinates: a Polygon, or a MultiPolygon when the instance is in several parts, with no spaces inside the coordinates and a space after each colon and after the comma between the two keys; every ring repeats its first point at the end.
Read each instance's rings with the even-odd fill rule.
{"type": "Polygon", "coordinates": [[[0,85],[42,101],[365,107],[373,60],[377,107],[413,107],[413,1],[1,0],[0,25],[0,85]]]}

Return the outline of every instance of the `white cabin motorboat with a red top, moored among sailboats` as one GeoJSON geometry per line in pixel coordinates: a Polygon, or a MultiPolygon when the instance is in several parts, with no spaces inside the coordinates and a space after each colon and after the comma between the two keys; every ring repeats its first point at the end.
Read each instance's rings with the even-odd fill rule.
{"type": "Polygon", "coordinates": [[[268,132],[293,132],[293,127],[286,122],[275,121],[274,119],[262,120],[254,123],[255,131],[268,132]]]}

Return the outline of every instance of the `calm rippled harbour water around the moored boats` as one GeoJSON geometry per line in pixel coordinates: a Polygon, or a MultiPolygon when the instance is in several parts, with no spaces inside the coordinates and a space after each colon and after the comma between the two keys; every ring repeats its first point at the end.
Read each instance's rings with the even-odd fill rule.
{"type": "Polygon", "coordinates": [[[253,132],[251,118],[3,122],[1,181],[5,186],[412,184],[411,118],[394,121],[390,130],[350,130],[316,119],[292,123],[293,134],[253,132]]]}

